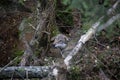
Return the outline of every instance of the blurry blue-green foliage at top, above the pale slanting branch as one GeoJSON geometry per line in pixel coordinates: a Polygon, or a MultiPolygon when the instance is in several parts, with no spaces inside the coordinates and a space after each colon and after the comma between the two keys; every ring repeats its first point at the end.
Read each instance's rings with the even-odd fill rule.
{"type": "Polygon", "coordinates": [[[96,21],[106,11],[104,5],[99,5],[96,0],[72,0],[69,9],[80,10],[83,22],[96,21]]]}

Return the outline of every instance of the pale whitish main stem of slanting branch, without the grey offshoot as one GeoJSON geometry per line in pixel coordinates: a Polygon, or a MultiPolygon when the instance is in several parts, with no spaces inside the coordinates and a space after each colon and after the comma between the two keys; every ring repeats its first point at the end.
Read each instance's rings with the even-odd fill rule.
{"type": "Polygon", "coordinates": [[[96,22],[92,28],[88,30],[88,32],[81,36],[80,40],[78,41],[77,45],[73,48],[73,50],[68,54],[68,56],[64,59],[64,63],[66,64],[67,68],[70,67],[70,60],[73,58],[74,55],[78,53],[78,51],[82,48],[82,45],[88,41],[92,35],[95,33],[97,27],[99,26],[100,21],[96,22]]]}

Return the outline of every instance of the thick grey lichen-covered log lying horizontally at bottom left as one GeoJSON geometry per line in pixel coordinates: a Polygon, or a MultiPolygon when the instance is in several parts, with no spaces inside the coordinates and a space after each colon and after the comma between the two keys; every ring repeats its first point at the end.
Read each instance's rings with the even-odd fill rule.
{"type": "Polygon", "coordinates": [[[48,76],[51,69],[48,66],[7,67],[0,72],[0,78],[44,78],[48,76]]]}

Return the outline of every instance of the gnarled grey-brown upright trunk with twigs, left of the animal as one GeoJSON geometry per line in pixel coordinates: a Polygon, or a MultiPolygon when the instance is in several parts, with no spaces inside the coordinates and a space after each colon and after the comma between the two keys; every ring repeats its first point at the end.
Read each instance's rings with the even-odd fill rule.
{"type": "Polygon", "coordinates": [[[29,65],[29,59],[32,58],[34,60],[34,62],[37,60],[37,57],[34,55],[34,46],[35,44],[37,43],[38,44],[38,40],[41,38],[41,35],[42,35],[42,31],[44,30],[45,28],[45,25],[46,25],[46,20],[47,18],[49,17],[49,14],[48,13],[48,10],[46,10],[44,12],[44,14],[46,15],[42,15],[42,13],[40,12],[39,10],[39,7],[40,7],[40,3],[38,2],[37,4],[37,17],[39,18],[38,19],[38,25],[35,27],[33,27],[33,29],[35,30],[34,34],[33,34],[33,37],[32,39],[30,40],[30,42],[27,42],[25,39],[24,40],[24,43],[25,43],[25,46],[26,46],[26,49],[24,51],[24,54],[22,56],[22,59],[21,59],[21,62],[20,62],[20,65],[21,66],[25,66],[25,65],[29,65]]]}

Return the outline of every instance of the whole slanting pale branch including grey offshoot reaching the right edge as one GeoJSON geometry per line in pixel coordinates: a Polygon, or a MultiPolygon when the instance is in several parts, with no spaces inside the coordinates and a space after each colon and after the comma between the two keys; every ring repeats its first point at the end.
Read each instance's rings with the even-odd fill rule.
{"type": "Polygon", "coordinates": [[[107,28],[109,25],[111,25],[113,22],[115,22],[119,18],[120,18],[120,14],[117,14],[117,15],[113,16],[112,18],[110,18],[105,24],[103,24],[100,27],[99,27],[100,21],[98,21],[88,30],[88,32],[86,34],[82,35],[81,38],[79,39],[77,45],[73,48],[73,50],[64,59],[64,63],[66,64],[67,68],[70,68],[70,61],[73,58],[73,56],[78,53],[78,51],[82,48],[83,44],[85,44],[85,42],[87,42],[93,36],[93,34],[96,33],[96,31],[101,31],[101,30],[107,28]]]}

